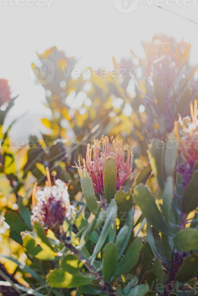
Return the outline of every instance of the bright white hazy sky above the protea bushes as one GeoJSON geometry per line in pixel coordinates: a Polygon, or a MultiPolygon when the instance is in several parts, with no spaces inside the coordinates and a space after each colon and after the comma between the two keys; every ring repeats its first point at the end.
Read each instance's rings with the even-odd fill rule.
{"type": "MultiPolygon", "coordinates": [[[[163,7],[197,20],[198,6],[193,4],[163,7]]],[[[146,0],[140,0],[136,11],[129,14],[117,11],[112,0],[53,0],[49,10],[0,5],[0,25],[0,77],[8,79],[12,91],[19,94],[7,123],[29,110],[25,119],[28,125],[24,126],[24,118],[19,120],[14,134],[20,128],[21,133],[34,130],[39,117],[48,114],[39,103],[45,101],[43,88],[32,81],[29,69],[37,60],[36,52],[43,53],[51,46],[80,58],[78,66],[82,69],[93,65],[111,68],[112,55],[119,60],[133,49],[143,57],[140,40],[149,41],[153,34],[163,32],[191,43],[190,61],[198,63],[198,26],[157,8],[154,1],[150,7],[146,0]],[[31,118],[30,114],[39,115],[31,118]]]]}

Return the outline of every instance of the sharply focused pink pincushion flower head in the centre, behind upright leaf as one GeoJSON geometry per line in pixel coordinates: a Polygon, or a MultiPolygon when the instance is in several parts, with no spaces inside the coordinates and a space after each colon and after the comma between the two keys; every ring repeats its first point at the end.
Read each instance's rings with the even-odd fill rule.
{"type": "MultiPolygon", "coordinates": [[[[104,194],[103,187],[103,174],[104,174],[104,166],[107,158],[111,157],[116,160],[117,167],[117,182],[116,182],[116,190],[119,190],[121,186],[128,180],[131,181],[130,176],[132,175],[132,164],[133,164],[133,153],[129,149],[127,150],[127,159],[125,162],[124,159],[124,147],[123,141],[119,139],[117,136],[115,139],[113,136],[111,137],[111,145],[109,144],[108,137],[102,136],[100,140],[94,140],[94,149],[87,145],[87,153],[86,153],[86,164],[85,159],[84,168],[87,168],[89,172],[94,190],[98,192],[100,195],[104,194]],[[102,149],[100,150],[100,148],[102,149]],[[93,155],[92,155],[93,150],[93,155]],[[100,152],[101,151],[101,152],[100,152]]],[[[82,171],[83,167],[80,163],[80,158],[78,158],[79,166],[78,169],[82,171]]]]}

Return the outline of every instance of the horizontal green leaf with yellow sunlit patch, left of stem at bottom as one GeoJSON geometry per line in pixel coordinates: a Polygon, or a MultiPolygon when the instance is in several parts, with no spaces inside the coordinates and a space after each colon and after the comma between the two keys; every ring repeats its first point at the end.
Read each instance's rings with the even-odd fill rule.
{"type": "Polygon", "coordinates": [[[54,269],[47,275],[47,282],[54,288],[76,288],[88,285],[94,278],[71,274],[62,269],[54,269]]]}

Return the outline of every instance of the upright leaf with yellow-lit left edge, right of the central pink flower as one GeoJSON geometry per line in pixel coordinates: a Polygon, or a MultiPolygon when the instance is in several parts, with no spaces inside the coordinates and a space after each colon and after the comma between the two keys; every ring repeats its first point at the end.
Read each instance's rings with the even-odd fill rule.
{"type": "Polygon", "coordinates": [[[164,149],[165,144],[160,139],[153,139],[147,150],[153,174],[161,190],[164,187],[164,149]]]}

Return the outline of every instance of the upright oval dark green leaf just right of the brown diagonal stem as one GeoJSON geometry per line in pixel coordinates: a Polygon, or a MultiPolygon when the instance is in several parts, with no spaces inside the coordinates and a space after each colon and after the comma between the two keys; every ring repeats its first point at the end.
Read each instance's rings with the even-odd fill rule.
{"type": "Polygon", "coordinates": [[[104,281],[108,282],[114,275],[117,266],[118,248],[114,243],[107,243],[103,249],[104,281]]]}

